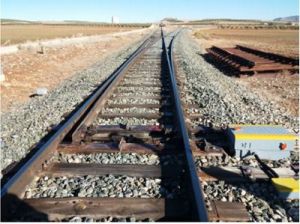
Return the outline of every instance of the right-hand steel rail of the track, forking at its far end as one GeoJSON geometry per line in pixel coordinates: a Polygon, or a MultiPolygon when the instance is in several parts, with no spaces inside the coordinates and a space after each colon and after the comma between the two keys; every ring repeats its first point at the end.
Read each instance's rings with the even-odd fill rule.
{"type": "Polygon", "coordinates": [[[189,173],[189,178],[190,178],[190,184],[191,184],[191,190],[192,190],[192,202],[193,202],[193,207],[196,212],[196,214],[192,214],[195,220],[200,221],[200,222],[208,222],[208,214],[207,214],[207,209],[206,209],[206,204],[204,201],[204,196],[202,192],[202,188],[200,186],[200,179],[197,175],[196,171],[196,166],[195,162],[193,159],[193,154],[192,150],[190,147],[189,143],[189,135],[187,132],[187,128],[185,125],[185,120],[184,120],[184,115],[182,112],[182,105],[180,101],[180,94],[177,89],[177,82],[175,78],[175,68],[174,68],[174,58],[173,58],[173,40],[176,37],[174,37],[171,40],[169,50],[167,49],[166,43],[165,43],[165,38],[163,34],[163,30],[161,30],[162,33],[162,39],[163,39],[163,48],[165,51],[165,54],[167,55],[167,62],[168,62],[168,68],[170,72],[170,78],[171,78],[171,84],[172,84],[172,94],[174,98],[174,103],[175,103],[175,108],[176,108],[176,118],[179,126],[179,132],[180,136],[183,141],[183,146],[184,146],[184,153],[187,161],[187,169],[189,173]]]}

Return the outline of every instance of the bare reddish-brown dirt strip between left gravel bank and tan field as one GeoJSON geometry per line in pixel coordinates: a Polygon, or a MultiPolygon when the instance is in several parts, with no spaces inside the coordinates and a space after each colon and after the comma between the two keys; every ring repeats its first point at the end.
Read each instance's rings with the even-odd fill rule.
{"type": "Polygon", "coordinates": [[[110,41],[85,43],[1,56],[5,81],[0,83],[1,113],[29,101],[39,87],[54,89],[63,80],[141,38],[130,34],[110,41]]]}

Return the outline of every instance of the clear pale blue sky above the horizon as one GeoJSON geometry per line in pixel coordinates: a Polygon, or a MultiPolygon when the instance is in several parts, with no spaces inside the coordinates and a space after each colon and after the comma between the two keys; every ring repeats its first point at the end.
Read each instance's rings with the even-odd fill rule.
{"type": "Polygon", "coordinates": [[[264,19],[299,14],[299,0],[0,0],[1,18],[155,22],[179,19],[264,19]]]}

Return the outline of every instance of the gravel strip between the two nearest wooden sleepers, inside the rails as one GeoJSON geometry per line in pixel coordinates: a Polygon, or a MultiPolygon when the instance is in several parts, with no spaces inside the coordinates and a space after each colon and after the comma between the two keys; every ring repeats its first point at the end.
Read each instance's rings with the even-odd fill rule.
{"type": "Polygon", "coordinates": [[[27,187],[25,198],[63,197],[129,197],[175,198],[181,192],[176,179],[162,181],[159,178],[129,176],[44,176],[27,187]]]}

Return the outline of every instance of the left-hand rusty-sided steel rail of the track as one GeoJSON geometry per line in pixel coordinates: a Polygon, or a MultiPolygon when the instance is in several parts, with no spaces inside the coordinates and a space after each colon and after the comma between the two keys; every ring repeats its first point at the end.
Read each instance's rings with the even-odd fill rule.
{"type": "Polygon", "coordinates": [[[80,108],[66,120],[62,126],[37,150],[37,152],[26,161],[21,168],[4,184],[1,188],[1,199],[7,194],[13,194],[20,197],[24,191],[24,186],[29,184],[36,175],[36,169],[42,168],[45,160],[49,159],[51,152],[71,131],[73,126],[92,108],[97,99],[110,86],[110,84],[127,68],[132,61],[138,57],[151,42],[151,36],[148,37],[138,49],[96,90],[80,108]],[[27,172],[28,175],[24,175],[27,172]]]}

